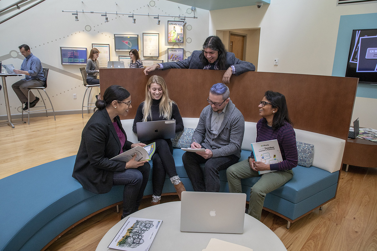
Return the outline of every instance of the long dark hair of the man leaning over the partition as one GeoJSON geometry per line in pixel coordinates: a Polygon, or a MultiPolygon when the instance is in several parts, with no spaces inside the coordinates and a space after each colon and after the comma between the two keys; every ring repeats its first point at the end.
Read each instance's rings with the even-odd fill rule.
{"type": "Polygon", "coordinates": [[[199,55],[200,60],[203,64],[207,65],[208,60],[204,56],[204,49],[210,48],[212,50],[217,50],[219,52],[219,57],[217,59],[217,67],[219,70],[226,70],[227,69],[227,49],[225,49],[224,44],[222,43],[221,39],[218,36],[210,36],[208,37],[203,44],[202,53],[199,55]]]}

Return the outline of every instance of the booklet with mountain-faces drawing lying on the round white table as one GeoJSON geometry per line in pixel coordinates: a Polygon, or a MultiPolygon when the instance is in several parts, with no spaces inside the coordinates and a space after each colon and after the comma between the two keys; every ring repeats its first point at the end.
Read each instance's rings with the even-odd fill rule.
{"type": "Polygon", "coordinates": [[[123,251],[148,251],[162,220],[128,218],[108,248],[123,251]]]}

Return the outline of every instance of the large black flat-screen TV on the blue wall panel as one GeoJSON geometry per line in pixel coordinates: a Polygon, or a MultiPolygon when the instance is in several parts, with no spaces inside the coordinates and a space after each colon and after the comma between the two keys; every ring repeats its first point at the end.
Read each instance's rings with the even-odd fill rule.
{"type": "Polygon", "coordinates": [[[352,30],[346,77],[377,85],[377,29],[352,30]]]}

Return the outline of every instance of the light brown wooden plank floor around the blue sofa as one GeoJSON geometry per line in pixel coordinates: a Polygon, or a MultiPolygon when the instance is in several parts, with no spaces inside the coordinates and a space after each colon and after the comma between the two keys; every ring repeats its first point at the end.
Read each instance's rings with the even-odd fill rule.
{"type": "MultiPolygon", "coordinates": [[[[0,125],[0,178],[49,161],[75,155],[81,131],[89,114],[36,117],[31,124],[15,128],[0,125]]],[[[2,121],[0,121],[1,123],[2,121]]],[[[178,196],[163,196],[162,202],[178,196]]],[[[141,208],[148,207],[144,199],[141,208]]],[[[104,234],[120,220],[115,208],[103,211],[72,228],[49,251],[95,250],[104,234]]],[[[288,251],[376,251],[377,250],[377,169],[349,167],[341,173],[337,198],[287,230],[287,222],[263,211],[262,222],[282,240],[288,251]]],[[[252,236],[250,236],[252,237],[252,236]]],[[[250,247],[252,248],[252,247],[250,247]]]]}

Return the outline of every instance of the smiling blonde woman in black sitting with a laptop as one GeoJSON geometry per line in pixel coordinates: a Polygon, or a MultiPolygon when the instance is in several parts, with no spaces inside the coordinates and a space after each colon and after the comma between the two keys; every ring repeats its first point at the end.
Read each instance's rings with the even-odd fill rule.
{"type": "MultiPolygon", "coordinates": [[[[177,104],[169,99],[165,80],[153,75],[149,78],[145,88],[145,100],[142,102],[136,111],[135,120],[133,120],[133,132],[136,131],[137,122],[169,120],[175,119],[175,132],[183,130],[183,121],[177,104]]],[[[153,161],[153,195],[152,205],[157,205],[161,200],[162,187],[164,186],[166,174],[173,183],[179,199],[181,199],[182,191],[185,191],[177,171],[175,169],[175,162],[173,158],[173,145],[170,139],[158,139],[145,141],[142,143],[150,144],[156,142],[156,151],[152,157],[153,161]]]]}

